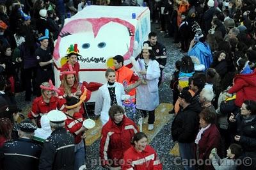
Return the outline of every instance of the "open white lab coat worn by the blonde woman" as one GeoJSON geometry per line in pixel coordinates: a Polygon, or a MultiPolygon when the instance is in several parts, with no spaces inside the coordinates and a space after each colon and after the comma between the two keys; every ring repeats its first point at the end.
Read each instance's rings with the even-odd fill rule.
{"type": "MultiPolygon", "coordinates": [[[[123,106],[122,96],[125,95],[124,86],[119,82],[115,82],[113,86],[115,86],[116,102],[118,105],[123,106]]],[[[102,126],[105,125],[109,120],[108,111],[109,111],[109,108],[111,107],[110,105],[111,99],[110,99],[108,87],[111,87],[111,86],[109,86],[108,83],[105,83],[99,88],[98,96],[95,102],[94,114],[100,115],[102,126]]]]}

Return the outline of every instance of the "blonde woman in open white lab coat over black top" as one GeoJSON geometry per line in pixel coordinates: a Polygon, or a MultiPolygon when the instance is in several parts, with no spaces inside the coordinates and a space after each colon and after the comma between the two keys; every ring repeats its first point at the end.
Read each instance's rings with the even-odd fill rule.
{"type": "Polygon", "coordinates": [[[94,109],[95,115],[100,115],[102,126],[109,120],[109,108],[112,105],[122,105],[122,99],[125,97],[123,84],[116,82],[115,70],[108,68],[105,77],[108,82],[99,88],[94,109]]]}

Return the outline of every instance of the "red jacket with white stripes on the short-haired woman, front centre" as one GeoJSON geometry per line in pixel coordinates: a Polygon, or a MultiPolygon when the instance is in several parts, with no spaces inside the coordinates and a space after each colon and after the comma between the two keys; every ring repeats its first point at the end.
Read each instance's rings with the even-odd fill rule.
{"type": "MultiPolygon", "coordinates": [[[[109,160],[120,160],[123,158],[124,152],[131,147],[131,139],[134,134],[138,132],[138,127],[134,121],[126,116],[123,117],[120,126],[109,119],[109,121],[102,127],[101,141],[100,141],[100,158],[102,166],[105,166],[109,160]]],[[[118,161],[111,165],[118,167],[118,161]]]]}

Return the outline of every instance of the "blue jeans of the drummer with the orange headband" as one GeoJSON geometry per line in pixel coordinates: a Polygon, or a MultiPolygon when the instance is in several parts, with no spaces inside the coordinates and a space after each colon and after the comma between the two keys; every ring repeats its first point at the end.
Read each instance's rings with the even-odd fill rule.
{"type": "Polygon", "coordinates": [[[75,144],[75,166],[74,169],[78,170],[79,167],[85,164],[85,150],[83,140],[75,144]]]}

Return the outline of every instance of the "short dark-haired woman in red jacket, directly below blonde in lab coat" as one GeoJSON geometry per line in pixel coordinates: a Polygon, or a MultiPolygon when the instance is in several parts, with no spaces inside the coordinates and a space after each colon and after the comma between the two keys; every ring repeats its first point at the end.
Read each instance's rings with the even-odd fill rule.
{"type": "Polygon", "coordinates": [[[109,121],[102,127],[99,155],[103,160],[102,166],[109,169],[121,169],[120,160],[131,147],[133,135],[138,132],[136,124],[124,113],[123,107],[112,105],[109,109],[109,121]]]}

